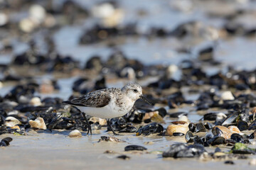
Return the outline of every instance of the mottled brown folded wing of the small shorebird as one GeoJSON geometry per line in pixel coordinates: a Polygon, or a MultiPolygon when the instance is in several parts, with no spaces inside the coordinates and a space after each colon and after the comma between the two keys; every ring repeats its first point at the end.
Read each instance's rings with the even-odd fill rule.
{"type": "Polygon", "coordinates": [[[80,98],[73,98],[70,102],[74,106],[102,108],[110,102],[110,94],[105,90],[94,91],[80,98]]]}

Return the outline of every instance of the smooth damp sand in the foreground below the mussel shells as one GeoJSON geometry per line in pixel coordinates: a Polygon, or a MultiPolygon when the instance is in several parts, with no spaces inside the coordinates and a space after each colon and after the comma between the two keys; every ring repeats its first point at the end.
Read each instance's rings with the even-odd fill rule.
{"type": "MultiPolygon", "coordinates": [[[[12,137],[9,147],[1,147],[1,169],[254,169],[249,159],[233,160],[235,166],[224,164],[224,160],[163,159],[161,152],[175,142],[186,142],[184,137],[159,137],[156,135],[135,136],[124,133],[116,136],[125,142],[98,142],[101,136],[112,136],[110,132],[93,130],[92,135],[82,132],[82,137],[68,137],[70,131],[30,131],[26,136],[5,134],[12,137]],[[154,142],[146,145],[146,142],[154,142]],[[147,151],[124,152],[127,145],[142,145],[147,151]],[[109,150],[112,154],[105,154],[109,150]],[[125,154],[130,159],[117,159],[125,154]],[[54,160],[54,161],[53,161],[54,160]],[[218,164],[216,164],[218,162],[218,164]]],[[[255,147],[255,146],[250,146],[255,147]]],[[[220,147],[228,152],[230,147],[220,147]]],[[[207,147],[214,152],[215,147],[207,147]]]]}

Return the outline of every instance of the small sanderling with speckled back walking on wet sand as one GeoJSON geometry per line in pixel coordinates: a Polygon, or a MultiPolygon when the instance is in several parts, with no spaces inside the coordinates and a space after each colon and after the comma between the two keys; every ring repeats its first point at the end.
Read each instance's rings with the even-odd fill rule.
{"type": "MultiPolygon", "coordinates": [[[[122,89],[101,89],[79,98],[73,98],[70,101],[63,101],[63,103],[75,106],[81,111],[88,125],[88,135],[89,131],[92,134],[92,129],[85,114],[97,118],[117,118],[131,111],[135,101],[139,98],[149,103],[142,95],[142,87],[139,84],[130,83],[122,89]]],[[[107,126],[112,130],[114,135],[117,135],[112,129],[109,120],[107,120],[107,126]]]]}

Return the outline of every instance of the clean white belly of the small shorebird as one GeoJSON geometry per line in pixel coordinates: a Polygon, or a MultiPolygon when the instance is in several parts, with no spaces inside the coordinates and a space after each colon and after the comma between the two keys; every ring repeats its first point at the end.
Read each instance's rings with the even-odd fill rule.
{"type": "Polygon", "coordinates": [[[118,109],[113,109],[113,107],[110,104],[102,108],[82,107],[82,106],[76,106],[76,107],[86,115],[95,116],[97,118],[117,118],[125,115],[130,111],[130,109],[132,109],[132,107],[130,107],[128,109],[119,111],[118,109]]]}

